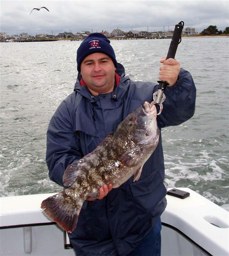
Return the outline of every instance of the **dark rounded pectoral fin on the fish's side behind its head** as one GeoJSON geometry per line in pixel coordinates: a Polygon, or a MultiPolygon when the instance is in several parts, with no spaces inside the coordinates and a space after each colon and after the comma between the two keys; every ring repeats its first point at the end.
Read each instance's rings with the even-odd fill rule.
{"type": "Polygon", "coordinates": [[[128,150],[120,158],[120,162],[128,167],[133,167],[138,164],[138,161],[142,157],[142,147],[137,146],[134,149],[128,150]]]}

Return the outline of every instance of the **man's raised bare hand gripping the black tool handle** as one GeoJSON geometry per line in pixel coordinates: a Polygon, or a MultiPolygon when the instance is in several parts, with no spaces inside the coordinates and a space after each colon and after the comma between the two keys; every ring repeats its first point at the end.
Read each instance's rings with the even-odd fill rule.
{"type": "Polygon", "coordinates": [[[180,73],[180,63],[172,58],[166,60],[166,57],[163,57],[160,62],[163,65],[160,66],[159,79],[169,83],[168,86],[173,86],[180,73]]]}

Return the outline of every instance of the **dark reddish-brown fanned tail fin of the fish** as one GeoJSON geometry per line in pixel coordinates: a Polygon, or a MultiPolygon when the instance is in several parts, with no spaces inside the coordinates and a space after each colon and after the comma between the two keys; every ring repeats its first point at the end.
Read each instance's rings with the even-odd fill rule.
{"type": "Polygon", "coordinates": [[[50,219],[56,222],[68,233],[71,233],[77,224],[82,203],[74,202],[70,197],[69,189],[42,201],[41,208],[50,219]]]}

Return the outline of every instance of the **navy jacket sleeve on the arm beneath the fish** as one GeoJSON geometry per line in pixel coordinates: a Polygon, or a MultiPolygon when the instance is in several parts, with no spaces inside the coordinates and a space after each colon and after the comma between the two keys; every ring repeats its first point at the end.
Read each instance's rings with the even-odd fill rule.
{"type": "Polygon", "coordinates": [[[50,180],[64,186],[65,169],[80,158],[79,135],[73,129],[71,115],[63,101],[51,118],[47,131],[46,163],[50,180]]]}

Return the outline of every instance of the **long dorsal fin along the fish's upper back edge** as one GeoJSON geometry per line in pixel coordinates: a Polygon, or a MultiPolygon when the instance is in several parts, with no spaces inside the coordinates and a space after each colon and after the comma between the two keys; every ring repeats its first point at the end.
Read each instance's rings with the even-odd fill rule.
{"type": "Polygon", "coordinates": [[[107,144],[107,142],[112,138],[115,132],[111,132],[106,136],[106,138],[94,149],[91,153],[85,155],[83,158],[79,159],[77,162],[70,164],[63,175],[63,183],[64,186],[69,187],[71,186],[75,180],[77,179],[77,176],[81,174],[81,168],[82,165],[87,161],[87,159],[94,153],[98,152],[104,145],[107,144]]]}

